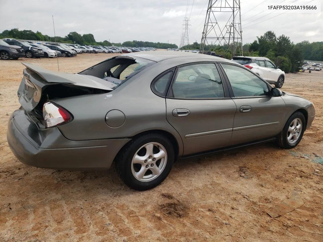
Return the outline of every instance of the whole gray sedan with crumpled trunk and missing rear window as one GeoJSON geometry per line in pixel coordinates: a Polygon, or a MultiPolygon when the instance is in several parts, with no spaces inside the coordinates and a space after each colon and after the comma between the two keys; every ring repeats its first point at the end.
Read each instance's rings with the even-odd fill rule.
{"type": "Polygon", "coordinates": [[[300,142],[315,108],[233,61],[137,52],[77,74],[26,64],[8,144],[24,164],[108,169],[129,187],[159,185],[179,157],[260,142],[300,142]]]}

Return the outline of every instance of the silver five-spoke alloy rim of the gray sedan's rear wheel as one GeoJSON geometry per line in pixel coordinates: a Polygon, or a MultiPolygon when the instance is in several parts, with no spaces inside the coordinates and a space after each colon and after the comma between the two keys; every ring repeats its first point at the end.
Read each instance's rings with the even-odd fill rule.
{"type": "Polygon", "coordinates": [[[151,142],[141,146],[131,161],[132,175],[141,182],[157,178],[165,169],[167,152],[164,146],[151,142]]]}

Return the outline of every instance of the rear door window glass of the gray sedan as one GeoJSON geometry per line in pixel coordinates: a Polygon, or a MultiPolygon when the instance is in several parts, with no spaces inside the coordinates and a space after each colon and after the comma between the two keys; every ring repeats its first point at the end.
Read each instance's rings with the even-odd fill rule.
{"type": "Polygon", "coordinates": [[[215,64],[195,64],[178,69],[172,84],[174,98],[223,98],[224,88],[215,64]]]}

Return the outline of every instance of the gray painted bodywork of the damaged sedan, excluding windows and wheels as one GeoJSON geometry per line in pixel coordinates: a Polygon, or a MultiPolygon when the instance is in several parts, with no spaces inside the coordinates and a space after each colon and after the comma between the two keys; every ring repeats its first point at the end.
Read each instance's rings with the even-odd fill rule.
{"type": "MultiPolygon", "coordinates": [[[[139,52],[123,56],[137,56],[157,63],[132,76],[115,90],[106,88],[108,93],[53,100],[73,115],[71,122],[46,129],[40,122],[32,121],[26,110],[38,103],[37,95],[23,105],[26,110],[16,110],[9,120],[7,139],[18,159],[39,167],[108,168],[119,150],[142,132],[168,132],[178,144],[178,155],[182,156],[273,137],[298,109],[308,114],[307,127],[315,116],[312,103],[297,95],[227,96],[204,100],[157,96],[151,90],[151,82],[165,70],[194,62],[239,65],[223,58],[195,53],[139,52]],[[240,112],[241,106],[250,106],[251,109],[240,112]],[[180,112],[186,109],[189,115],[177,117],[175,113],[174,116],[175,109],[180,112]]],[[[40,87],[38,91],[46,85],[47,88],[50,88],[48,85],[56,85],[55,82],[80,86],[95,83],[93,88],[107,86],[97,77],[104,70],[103,64],[98,68],[90,67],[81,74],[55,73],[35,65],[26,66],[41,76],[32,75],[32,80],[40,87]],[[42,78],[51,83],[45,83],[42,78]]],[[[26,88],[24,85],[22,83],[18,90],[21,103],[25,100],[22,95],[22,88],[26,88]]]]}

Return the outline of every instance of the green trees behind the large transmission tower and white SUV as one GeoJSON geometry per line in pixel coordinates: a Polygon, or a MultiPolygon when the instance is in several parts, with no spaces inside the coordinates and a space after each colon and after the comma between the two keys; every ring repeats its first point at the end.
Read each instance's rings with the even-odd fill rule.
{"type": "MultiPolygon", "coordinates": [[[[237,44],[237,43],[236,43],[237,44]]],[[[200,49],[200,44],[183,46],[181,49],[200,49]]],[[[215,51],[217,55],[232,59],[232,46],[228,45],[205,45],[204,50],[215,51]]],[[[269,58],[285,73],[299,70],[303,60],[323,61],[323,42],[302,41],[294,44],[288,36],[276,36],[273,31],[267,31],[253,43],[244,44],[243,55],[263,56],[269,58]]]]}

